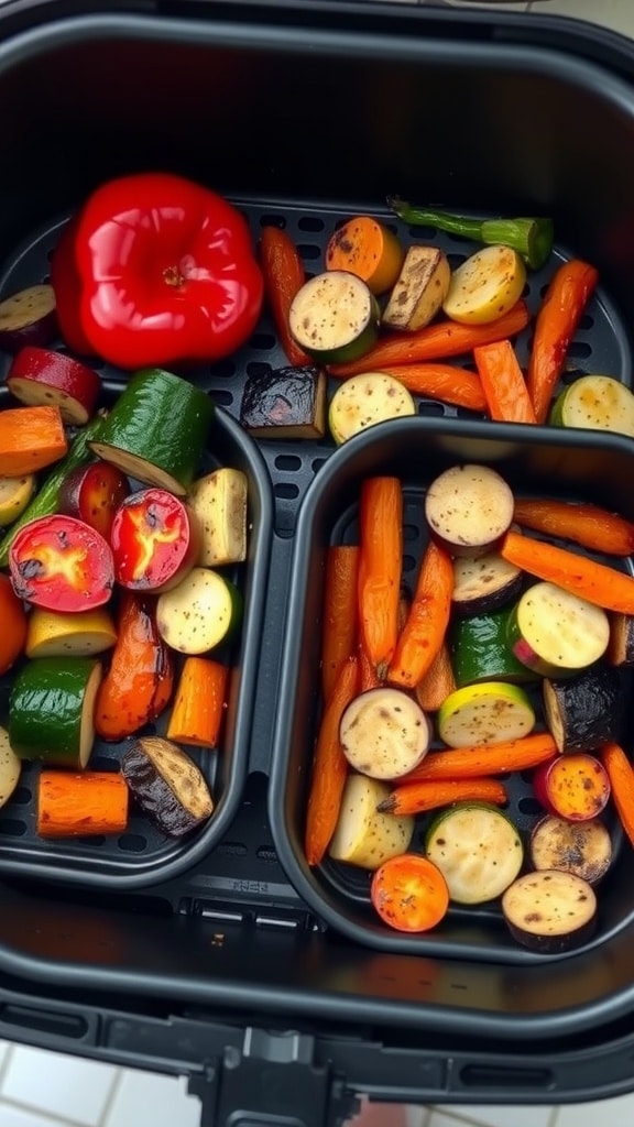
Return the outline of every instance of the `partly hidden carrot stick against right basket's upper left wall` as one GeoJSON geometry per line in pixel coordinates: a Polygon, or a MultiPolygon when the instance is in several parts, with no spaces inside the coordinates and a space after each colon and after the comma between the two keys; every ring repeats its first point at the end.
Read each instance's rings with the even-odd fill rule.
{"type": "Polygon", "coordinates": [[[354,654],[358,629],[359,556],[356,544],[332,544],[326,551],[322,692],[329,700],[340,669],[354,654]]]}

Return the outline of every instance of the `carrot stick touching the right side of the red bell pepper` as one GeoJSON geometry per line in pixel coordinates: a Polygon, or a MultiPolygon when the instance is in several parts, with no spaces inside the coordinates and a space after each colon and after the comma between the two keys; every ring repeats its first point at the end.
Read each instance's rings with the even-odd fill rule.
{"type": "Polygon", "coordinates": [[[279,227],[262,229],[259,261],[280,344],[291,364],[310,364],[309,357],[293,339],[289,328],[289,311],[293,298],[306,282],[306,272],[298,249],[287,231],[279,227]]]}

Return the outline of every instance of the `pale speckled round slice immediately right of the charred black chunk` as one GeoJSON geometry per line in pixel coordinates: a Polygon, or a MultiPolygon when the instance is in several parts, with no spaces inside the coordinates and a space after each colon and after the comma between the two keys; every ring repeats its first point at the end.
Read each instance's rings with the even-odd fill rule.
{"type": "Polygon", "coordinates": [[[328,426],[341,446],[369,426],[415,414],[414,400],[398,380],[385,372],[367,372],[340,384],[331,400],[328,426]]]}

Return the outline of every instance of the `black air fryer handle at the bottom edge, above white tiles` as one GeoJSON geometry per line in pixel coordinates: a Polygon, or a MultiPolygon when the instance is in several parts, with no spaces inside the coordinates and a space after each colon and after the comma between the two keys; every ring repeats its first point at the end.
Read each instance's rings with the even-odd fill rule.
{"type": "Polygon", "coordinates": [[[314,1050],[303,1033],[247,1028],[241,1048],[190,1079],[201,1127],[343,1127],[359,1100],[314,1050]]]}

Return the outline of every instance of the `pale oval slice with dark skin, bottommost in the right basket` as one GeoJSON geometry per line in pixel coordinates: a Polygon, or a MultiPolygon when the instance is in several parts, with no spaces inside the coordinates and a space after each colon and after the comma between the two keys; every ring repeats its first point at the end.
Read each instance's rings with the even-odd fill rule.
{"type": "Polygon", "coordinates": [[[560,955],[590,939],[597,922],[592,886],[573,872],[526,872],[507,888],[502,912],[518,943],[541,955],[560,955]]]}

